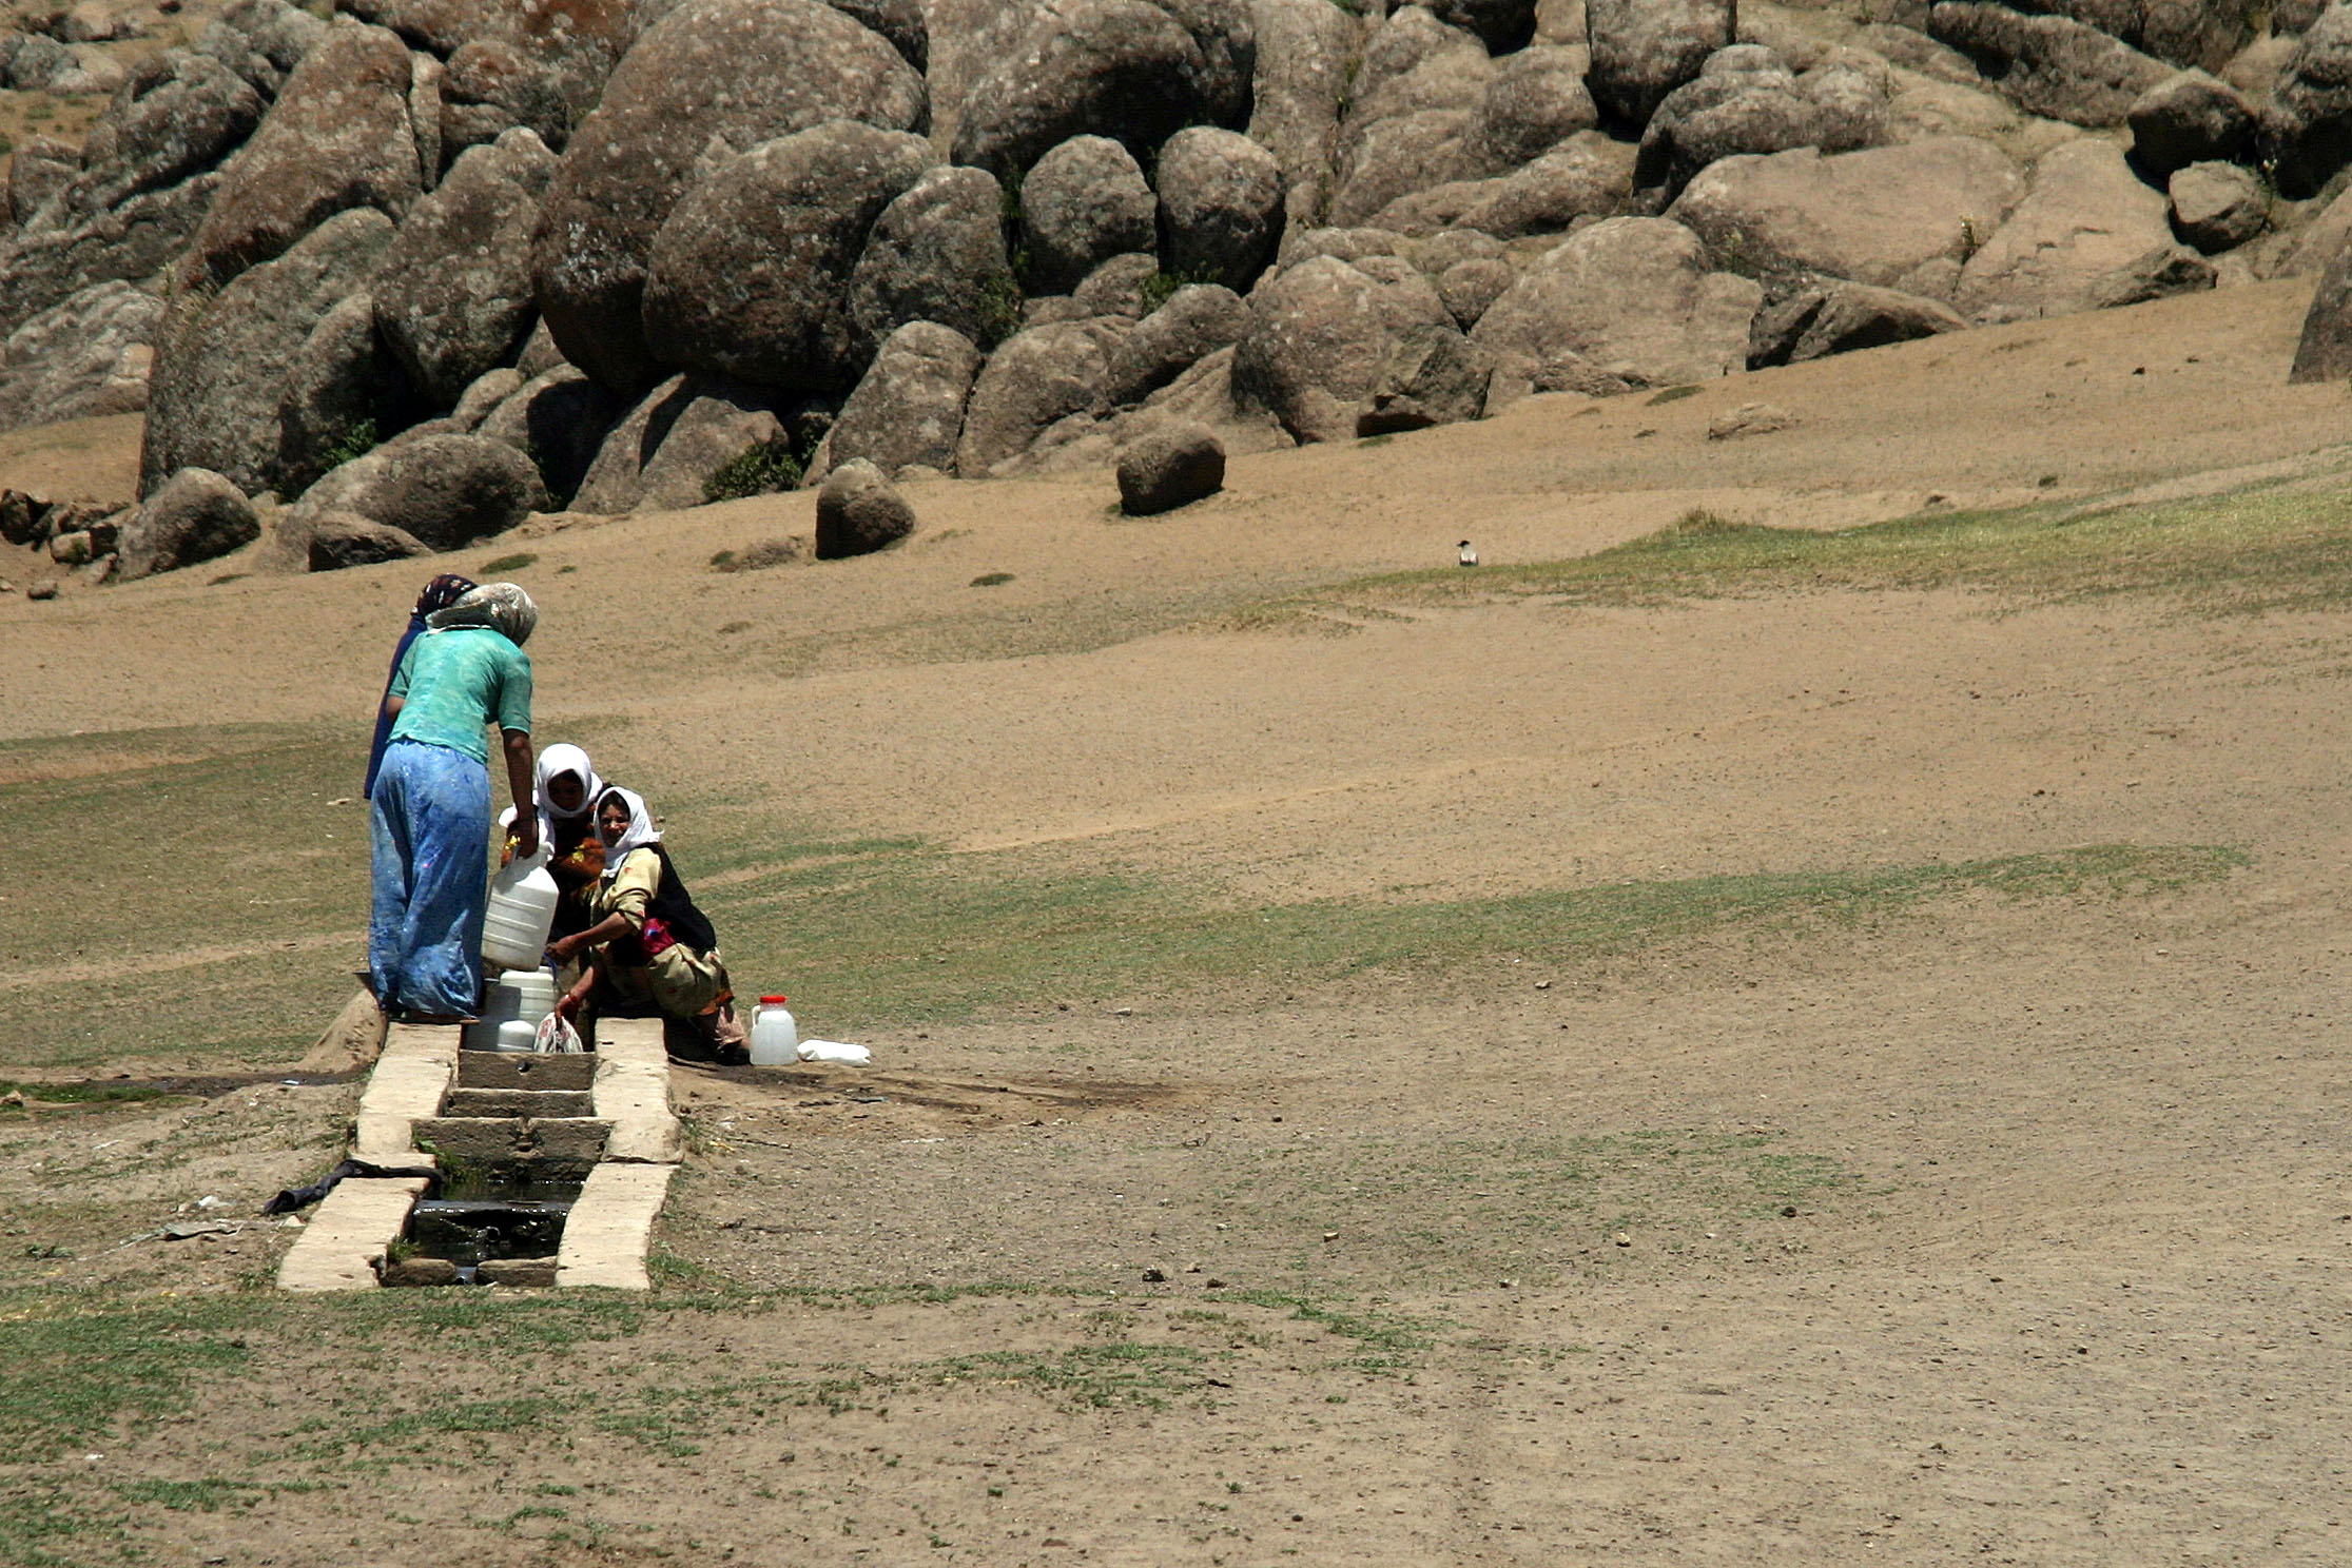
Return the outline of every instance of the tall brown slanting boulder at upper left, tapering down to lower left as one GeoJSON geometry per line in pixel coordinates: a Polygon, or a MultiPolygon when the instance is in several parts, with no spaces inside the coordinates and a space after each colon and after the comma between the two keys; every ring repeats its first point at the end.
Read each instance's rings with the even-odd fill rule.
{"type": "Polygon", "coordinates": [[[179,277],[221,287],[339,212],[374,207],[397,219],[423,190],[407,45],[383,28],[339,24],[228,165],[179,277]]]}

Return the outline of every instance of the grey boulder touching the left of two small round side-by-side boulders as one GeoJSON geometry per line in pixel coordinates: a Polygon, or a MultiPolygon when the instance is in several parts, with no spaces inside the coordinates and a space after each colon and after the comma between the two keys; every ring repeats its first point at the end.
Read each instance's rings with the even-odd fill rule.
{"type": "Polygon", "coordinates": [[[924,169],[875,219],[849,273],[851,360],[873,364],[906,322],[938,322],[985,348],[1018,329],[1004,193],[988,169],[924,169]]]}

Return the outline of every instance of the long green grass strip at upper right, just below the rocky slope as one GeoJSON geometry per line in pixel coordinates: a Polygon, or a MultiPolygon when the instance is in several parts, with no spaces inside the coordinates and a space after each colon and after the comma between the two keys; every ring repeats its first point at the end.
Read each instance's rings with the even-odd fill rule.
{"type": "Polygon", "coordinates": [[[1799,531],[1689,512],[1644,538],[1564,562],[1357,578],[1336,597],[1444,604],[1550,597],[1672,604],[1811,590],[1962,588],[2025,604],[2152,595],[2199,614],[2317,611],[2352,602],[2352,496],[2267,489],[2166,505],[2058,503],[1922,512],[1799,531]]]}

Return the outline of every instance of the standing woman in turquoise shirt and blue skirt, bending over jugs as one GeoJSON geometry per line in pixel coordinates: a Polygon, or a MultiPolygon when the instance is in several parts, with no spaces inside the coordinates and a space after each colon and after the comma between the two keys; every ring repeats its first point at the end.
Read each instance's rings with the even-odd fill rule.
{"type": "Polygon", "coordinates": [[[475,588],[426,616],[383,698],[393,736],[372,799],[367,973],[395,1020],[466,1023],[482,1004],[492,724],[515,797],[515,853],[539,849],[522,654],[536,623],[539,607],[513,583],[475,588]]]}

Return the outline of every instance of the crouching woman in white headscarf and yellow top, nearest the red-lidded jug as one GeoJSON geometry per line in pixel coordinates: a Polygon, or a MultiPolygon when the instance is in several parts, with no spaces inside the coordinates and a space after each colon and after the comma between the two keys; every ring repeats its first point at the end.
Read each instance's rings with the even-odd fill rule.
{"type": "Polygon", "coordinates": [[[604,842],[604,872],[588,893],[595,924],[548,947],[557,966],[581,961],[581,978],[555,1009],[590,1046],[597,1018],[659,1016],[670,1056],[746,1060],[717,931],[687,896],[644,799],[604,790],[595,818],[604,842]]]}

